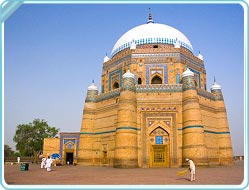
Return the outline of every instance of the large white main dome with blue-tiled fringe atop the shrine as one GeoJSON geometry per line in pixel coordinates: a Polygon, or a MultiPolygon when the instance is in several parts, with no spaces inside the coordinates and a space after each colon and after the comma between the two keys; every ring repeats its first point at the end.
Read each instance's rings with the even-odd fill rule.
{"type": "Polygon", "coordinates": [[[192,45],[188,38],[179,30],[165,25],[153,22],[139,25],[126,32],[114,45],[111,56],[131,46],[131,42],[135,41],[136,45],[162,43],[175,44],[176,40],[180,45],[193,52],[192,45]]]}

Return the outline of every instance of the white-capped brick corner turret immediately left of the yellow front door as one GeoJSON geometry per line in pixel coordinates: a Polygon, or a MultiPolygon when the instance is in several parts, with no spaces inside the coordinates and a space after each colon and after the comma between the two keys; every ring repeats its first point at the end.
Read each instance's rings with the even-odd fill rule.
{"type": "Polygon", "coordinates": [[[137,101],[135,75],[128,70],[123,75],[123,85],[118,104],[114,167],[137,168],[137,101]]]}

